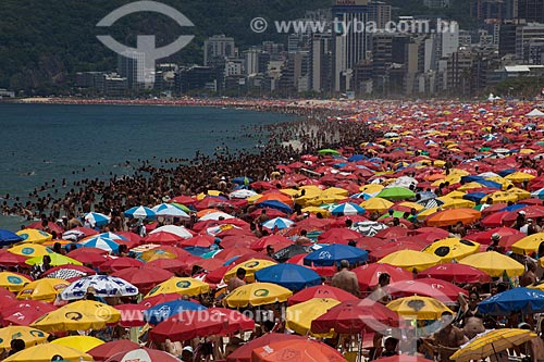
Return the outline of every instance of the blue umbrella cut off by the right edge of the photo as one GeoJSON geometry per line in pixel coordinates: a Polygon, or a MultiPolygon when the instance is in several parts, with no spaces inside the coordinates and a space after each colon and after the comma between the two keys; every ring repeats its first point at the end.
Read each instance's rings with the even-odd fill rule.
{"type": "Polygon", "coordinates": [[[544,311],[544,291],[530,288],[506,290],[479,303],[478,311],[492,315],[509,315],[515,311],[540,313],[544,311]]]}

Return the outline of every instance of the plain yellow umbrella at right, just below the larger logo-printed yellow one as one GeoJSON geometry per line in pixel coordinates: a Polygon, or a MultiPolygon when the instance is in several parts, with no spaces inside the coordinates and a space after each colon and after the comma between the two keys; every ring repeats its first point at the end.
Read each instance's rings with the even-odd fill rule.
{"type": "Polygon", "coordinates": [[[526,271],[522,264],[496,251],[479,252],[468,255],[461,259],[459,263],[479,269],[493,277],[503,276],[504,273],[510,277],[520,276],[526,271]]]}

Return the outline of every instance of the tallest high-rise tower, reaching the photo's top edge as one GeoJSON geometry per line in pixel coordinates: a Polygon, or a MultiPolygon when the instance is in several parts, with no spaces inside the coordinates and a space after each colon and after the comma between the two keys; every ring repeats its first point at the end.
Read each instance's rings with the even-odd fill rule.
{"type": "Polygon", "coordinates": [[[336,0],[333,15],[333,73],[334,91],[351,90],[354,67],[367,53],[368,0],[336,0]]]}

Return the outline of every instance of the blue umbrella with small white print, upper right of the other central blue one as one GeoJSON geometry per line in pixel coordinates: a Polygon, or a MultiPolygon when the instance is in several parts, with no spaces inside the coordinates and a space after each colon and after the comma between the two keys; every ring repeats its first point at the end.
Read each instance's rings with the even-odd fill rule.
{"type": "Polygon", "coordinates": [[[346,245],[333,244],[309,253],[304,262],[305,265],[332,266],[339,264],[343,260],[347,260],[350,264],[355,264],[362,263],[368,259],[369,253],[366,250],[346,245]]]}

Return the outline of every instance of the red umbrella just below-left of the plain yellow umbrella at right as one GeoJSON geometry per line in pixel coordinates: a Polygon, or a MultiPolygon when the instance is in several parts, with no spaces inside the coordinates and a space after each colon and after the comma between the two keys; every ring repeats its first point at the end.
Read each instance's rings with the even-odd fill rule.
{"type": "Polygon", "coordinates": [[[418,278],[436,278],[450,283],[490,283],[491,277],[470,265],[445,263],[431,266],[417,275],[418,278]]]}

